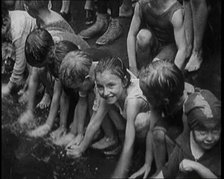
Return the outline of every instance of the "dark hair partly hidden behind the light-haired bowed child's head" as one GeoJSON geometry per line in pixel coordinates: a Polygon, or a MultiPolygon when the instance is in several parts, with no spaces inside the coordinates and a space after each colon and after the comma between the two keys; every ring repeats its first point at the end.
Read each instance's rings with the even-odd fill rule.
{"type": "Polygon", "coordinates": [[[70,41],[60,41],[56,43],[48,53],[47,63],[50,73],[59,78],[59,68],[62,60],[71,51],[78,50],[78,47],[70,41]]]}

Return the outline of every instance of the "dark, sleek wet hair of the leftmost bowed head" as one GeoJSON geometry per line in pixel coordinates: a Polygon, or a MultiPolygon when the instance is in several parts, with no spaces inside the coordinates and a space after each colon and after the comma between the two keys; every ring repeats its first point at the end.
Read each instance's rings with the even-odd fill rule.
{"type": "Polygon", "coordinates": [[[29,65],[43,66],[53,45],[53,38],[47,30],[42,28],[33,30],[27,36],[25,43],[25,56],[29,65]]]}

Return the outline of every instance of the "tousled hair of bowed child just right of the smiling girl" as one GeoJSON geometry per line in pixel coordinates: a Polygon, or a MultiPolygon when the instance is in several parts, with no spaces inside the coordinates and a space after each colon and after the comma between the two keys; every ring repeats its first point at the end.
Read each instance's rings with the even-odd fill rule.
{"type": "Polygon", "coordinates": [[[150,101],[169,99],[175,104],[184,91],[184,76],[181,70],[171,62],[158,60],[143,68],[139,74],[140,88],[150,101]]]}

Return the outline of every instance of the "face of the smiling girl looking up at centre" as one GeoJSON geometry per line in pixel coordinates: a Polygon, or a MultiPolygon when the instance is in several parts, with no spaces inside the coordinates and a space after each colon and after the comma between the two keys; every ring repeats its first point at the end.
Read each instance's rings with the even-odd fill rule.
{"type": "Polygon", "coordinates": [[[96,85],[100,96],[108,104],[116,103],[121,98],[125,89],[122,80],[108,70],[96,74],[96,85]]]}

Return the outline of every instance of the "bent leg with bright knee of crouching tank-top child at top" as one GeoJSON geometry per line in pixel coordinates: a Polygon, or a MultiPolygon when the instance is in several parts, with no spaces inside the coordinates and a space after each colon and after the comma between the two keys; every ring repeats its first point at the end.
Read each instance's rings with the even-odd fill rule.
{"type": "Polygon", "coordinates": [[[152,61],[152,43],[153,37],[151,31],[148,29],[141,29],[136,37],[136,61],[138,70],[152,61]]]}

